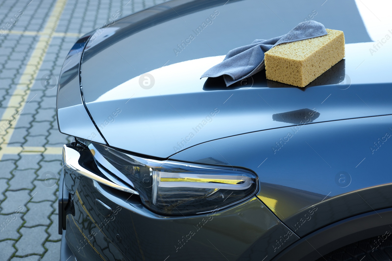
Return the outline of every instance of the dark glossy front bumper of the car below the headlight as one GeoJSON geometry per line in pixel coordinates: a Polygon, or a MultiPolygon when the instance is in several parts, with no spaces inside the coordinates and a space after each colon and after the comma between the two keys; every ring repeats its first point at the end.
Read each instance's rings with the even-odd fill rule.
{"type": "MultiPolygon", "coordinates": [[[[80,165],[96,173],[94,160],[85,156],[83,148],[78,150],[80,165]]],[[[298,240],[256,196],[197,216],[162,216],[144,207],[137,194],[84,175],[64,178],[74,172],[64,163],[60,228],[66,229],[62,240],[78,261],[268,261],[298,240]]]]}

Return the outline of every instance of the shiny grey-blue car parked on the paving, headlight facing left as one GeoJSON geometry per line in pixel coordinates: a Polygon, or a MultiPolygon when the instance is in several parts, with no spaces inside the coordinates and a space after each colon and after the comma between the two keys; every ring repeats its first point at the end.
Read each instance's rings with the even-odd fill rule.
{"type": "Polygon", "coordinates": [[[172,0],[80,38],[57,96],[61,260],[391,260],[392,32],[323,2],[172,0]],[[200,79],[307,20],[346,51],[306,87],[200,79]]]}

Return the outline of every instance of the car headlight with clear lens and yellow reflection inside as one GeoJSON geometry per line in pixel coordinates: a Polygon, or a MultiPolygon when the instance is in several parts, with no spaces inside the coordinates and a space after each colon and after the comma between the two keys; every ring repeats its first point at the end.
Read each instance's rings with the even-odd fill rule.
{"type": "Polygon", "coordinates": [[[246,169],[151,160],[81,141],[98,167],[138,191],[143,204],[161,214],[207,212],[256,192],[257,177],[246,169]]]}

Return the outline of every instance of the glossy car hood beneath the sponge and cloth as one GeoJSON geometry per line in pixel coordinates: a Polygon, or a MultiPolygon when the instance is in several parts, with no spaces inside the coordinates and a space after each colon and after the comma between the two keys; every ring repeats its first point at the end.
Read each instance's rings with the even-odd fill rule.
{"type": "Polygon", "coordinates": [[[277,25],[279,18],[258,1],[225,2],[171,1],[94,34],[83,53],[81,85],[110,146],[167,158],[232,135],[392,112],[392,52],[385,45],[369,53],[374,43],[354,1],[326,8],[339,5],[345,16],[317,14],[327,28],[345,32],[346,57],[307,87],[269,81],[265,71],[229,88],[221,77],[200,79],[230,49],[301,22],[290,8],[309,12],[309,1],[287,2],[293,6],[279,13],[285,23],[277,25]],[[255,24],[269,26],[254,30],[255,24]]]}

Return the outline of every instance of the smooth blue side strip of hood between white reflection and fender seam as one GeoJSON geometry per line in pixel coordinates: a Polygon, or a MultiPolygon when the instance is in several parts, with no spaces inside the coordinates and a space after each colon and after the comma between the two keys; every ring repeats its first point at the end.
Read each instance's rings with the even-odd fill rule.
{"type": "MultiPolygon", "coordinates": [[[[390,83],[351,84],[346,90],[341,90],[339,84],[307,89],[268,88],[265,82],[259,85],[253,78],[255,83],[247,90],[207,92],[200,83],[199,92],[87,105],[110,146],[160,158],[209,140],[295,126],[301,121],[324,122],[392,112],[390,83]],[[121,113],[111,117],[116,110],[121,113]],[[305,118],[310,110],[314,116],[305,118]]],[[[184,88],[180,83],[171,85],[174,86],[184,88]]],[[[164,93],[165,86],[156,86],[156,90],[164,93]]]]}

